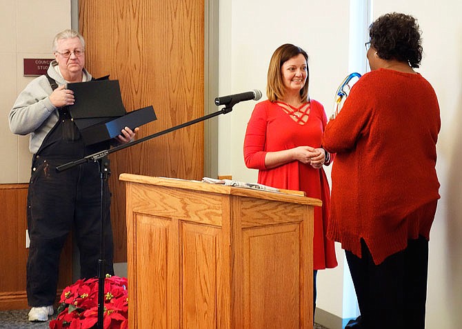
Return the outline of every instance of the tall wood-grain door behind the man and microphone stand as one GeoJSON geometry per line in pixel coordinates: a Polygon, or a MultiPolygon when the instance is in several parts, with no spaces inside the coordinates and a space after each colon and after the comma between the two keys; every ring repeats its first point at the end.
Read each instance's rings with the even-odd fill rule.
{"type": "MultiPolygon", "coordinates": [[[[81,0],[79,29],[86,68],[119,79],[128,111],[152,105],[157,121],[145,137],[203,116],[203,0],[81,0]]],[[[126,261],[125,195],[121,172],[201,179],[203,123],[110,155],[114,261],[126,261]]]]}

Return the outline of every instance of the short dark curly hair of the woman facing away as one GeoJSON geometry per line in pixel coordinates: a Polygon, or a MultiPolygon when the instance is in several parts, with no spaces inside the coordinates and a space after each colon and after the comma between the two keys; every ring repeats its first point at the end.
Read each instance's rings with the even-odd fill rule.
{"type": "Polygon", "coordinates": [[[370,45],[382,59],[405,61],[419,68],[422,60],[422,39],[414,17],[391,12],[384,14],[369,28],[370,45]]]}

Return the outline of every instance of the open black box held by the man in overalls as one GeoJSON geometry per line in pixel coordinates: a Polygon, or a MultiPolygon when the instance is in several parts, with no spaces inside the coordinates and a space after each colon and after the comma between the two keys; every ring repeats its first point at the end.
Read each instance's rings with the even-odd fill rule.
{"type": "Polygon", "coordinates": [[[74,105],[69,106],[72,119],[86,145],[107,141],[130,129],[157,119],[152,106],[126,112],[118,80],[95,80],[68,83],[74,92],[74,105]]]}

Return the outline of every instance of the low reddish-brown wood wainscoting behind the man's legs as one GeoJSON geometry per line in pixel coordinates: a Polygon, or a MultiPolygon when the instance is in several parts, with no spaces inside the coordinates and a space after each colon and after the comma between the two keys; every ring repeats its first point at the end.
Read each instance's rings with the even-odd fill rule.
{"type": "MultiPolygon", "coordinates": [[[[27,308],[26,248],[28,184],[0,184],[0,310],[27,308]]],[[[72,244],[68,239],[59,267],[61,289],[72,282],[72,244]]]]}

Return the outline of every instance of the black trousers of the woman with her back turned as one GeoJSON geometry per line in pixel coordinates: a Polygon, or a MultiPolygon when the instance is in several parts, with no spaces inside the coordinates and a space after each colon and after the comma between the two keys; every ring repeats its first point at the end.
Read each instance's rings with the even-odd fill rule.
{"type": "Polygon", "coordinates": [[[375,265],[361,240],[362,257],[345,251],[361,324],[365,329],[423,329],[428,278],[428,241],[408,241],[408,248],[375,265]]]}

